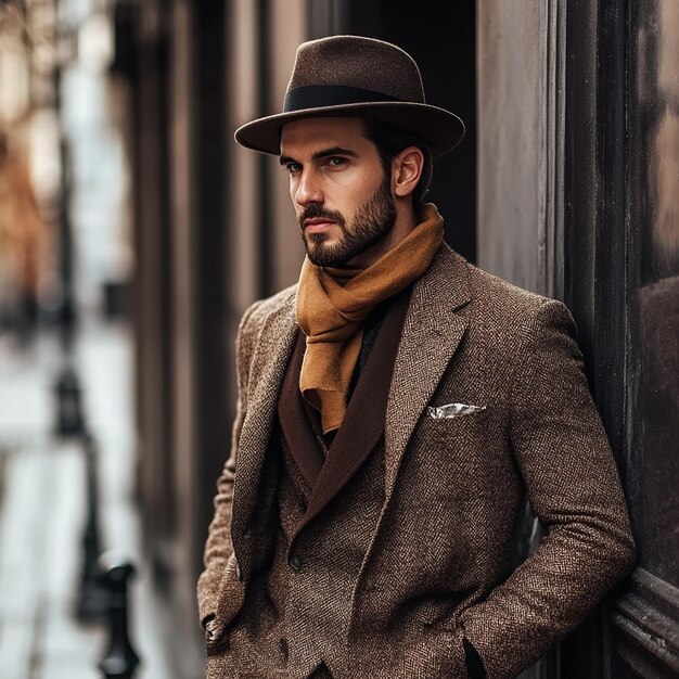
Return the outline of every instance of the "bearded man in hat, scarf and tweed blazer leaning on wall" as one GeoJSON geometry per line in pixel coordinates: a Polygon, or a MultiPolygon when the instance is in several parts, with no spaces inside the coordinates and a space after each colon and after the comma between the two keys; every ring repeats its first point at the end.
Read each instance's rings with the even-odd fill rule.
{"type": "Polygon", "coordinates": [[[463,129],[408,54],[340,36],[236,131],[280,155],[307,258],[241,322],[210,678],[514,677],[631,567],[567,310],[467,264],[422,202],[463,129]],[[525,492],[548,534],[511,573],[525,492]]]}

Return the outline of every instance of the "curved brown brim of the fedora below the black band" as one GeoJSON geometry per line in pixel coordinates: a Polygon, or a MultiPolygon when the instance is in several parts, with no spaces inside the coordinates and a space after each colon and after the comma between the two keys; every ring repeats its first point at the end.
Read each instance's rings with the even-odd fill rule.
{"type": "Polygon", "coordinates": [[[414,102],[369,102],[303,108],[279,113],[243,125],[235,141],[260,153],[279,155],[283,125],[304,118],[359,117],[411,130],[428,144],[434,156],[452,151],[464,137],[464,123],[450,111],[414,102]]]}

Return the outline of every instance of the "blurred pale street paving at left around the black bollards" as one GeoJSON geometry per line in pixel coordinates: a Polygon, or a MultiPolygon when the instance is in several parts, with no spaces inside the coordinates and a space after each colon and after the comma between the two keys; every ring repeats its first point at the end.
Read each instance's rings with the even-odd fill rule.
{"type": "MultiPolygon", "coordinates": [[[[133,507],[131,340],[123,324],[86,322],[75,353],[87,422],[98,439],[103,550],[139,568],[130,587],[136,676],[175,676],[163,653],[157,613],[133,507]]],[[[52,436],[59,344],[29,346],[0,335],[0,676],[89,679],[105,653],[104,622],[79,624],[74,611],[82,567],[86,470],[78,440],[52,436]]],[[[168,645],[167,648],[171,648],[168,645]]]]}

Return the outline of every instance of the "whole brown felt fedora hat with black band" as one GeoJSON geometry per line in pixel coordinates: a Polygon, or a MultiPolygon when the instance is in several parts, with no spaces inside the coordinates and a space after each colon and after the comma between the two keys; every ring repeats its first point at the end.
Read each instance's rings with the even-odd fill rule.
{"type": "Polygon", "coordinates": [[[278,155],[285,123],[324,116],[396,125],[418,134],[434,155],[453,149],[464,134],[457,115],[426,103],[420,69],[407,52],[373,38],[333,36],[299,46],[283,113],[243,125],[235,140],[278,155]]]}

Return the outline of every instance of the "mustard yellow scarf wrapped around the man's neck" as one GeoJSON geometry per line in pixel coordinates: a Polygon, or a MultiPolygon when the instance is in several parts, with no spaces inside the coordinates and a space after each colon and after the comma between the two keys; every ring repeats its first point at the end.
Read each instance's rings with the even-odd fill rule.
{"type": "Polygon", "coordinates": [[[321,413],[323,434],[340,428],[363,335],[362,321],[380,303],[424,273],[444,239],[444,220],[427,203],[422,221],[393,249],[347,279],[305,259],[297,290],[297,324],[307,336],[299,388],[321,413]]]}

